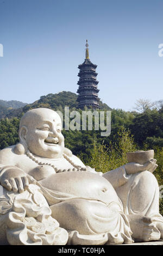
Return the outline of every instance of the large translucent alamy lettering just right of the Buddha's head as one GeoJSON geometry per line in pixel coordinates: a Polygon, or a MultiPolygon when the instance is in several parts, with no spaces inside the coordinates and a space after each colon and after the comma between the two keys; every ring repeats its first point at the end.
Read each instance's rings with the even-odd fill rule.
{"type": "Polygon", "coordinates": [[[92,131],[101,130],[101,136],[109,136],[111,133],[111,111],[71,111],[65,107],[65,113],[56,111],[62,120],[65,131],[92,131]]]}

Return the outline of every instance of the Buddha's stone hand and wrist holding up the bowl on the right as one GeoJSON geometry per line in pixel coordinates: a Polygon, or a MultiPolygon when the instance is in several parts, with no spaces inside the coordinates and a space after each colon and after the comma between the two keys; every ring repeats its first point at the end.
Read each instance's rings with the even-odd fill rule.
{"type": "Polygon", "coordinates": [[[153,173],[154,170],[158,167],[156,164],[156,159],[151,159],[144,164],[140,163],[127,163],[124,165],[127,174],[134,174],[138,172],[143,172],[144,170],[148,170],[149,172],[153,173]]]}

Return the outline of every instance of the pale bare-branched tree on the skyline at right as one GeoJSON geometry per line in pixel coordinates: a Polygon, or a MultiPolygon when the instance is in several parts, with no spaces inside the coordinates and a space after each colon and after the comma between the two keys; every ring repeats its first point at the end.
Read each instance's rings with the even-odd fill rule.
{"type": "Polygon", "coordinates": [[[134,110],[139,113],[145,113],[148,109],[153,109],[154,102],[146,99],[139,99],[135,102],[134,110]]]}

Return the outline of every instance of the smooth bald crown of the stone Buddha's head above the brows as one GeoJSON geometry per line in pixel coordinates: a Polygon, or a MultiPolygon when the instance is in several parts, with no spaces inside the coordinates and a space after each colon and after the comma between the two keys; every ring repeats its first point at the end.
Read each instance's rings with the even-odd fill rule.
{"type": "Polygon", "coordinates": [[[34,108],[26,112],[20,120],[20,128],[22,126],[31,127],[37,125],[40,120],[50,119],[51,121],[60,123],[61,118],[59,114],[49,108],[34,108]]]}

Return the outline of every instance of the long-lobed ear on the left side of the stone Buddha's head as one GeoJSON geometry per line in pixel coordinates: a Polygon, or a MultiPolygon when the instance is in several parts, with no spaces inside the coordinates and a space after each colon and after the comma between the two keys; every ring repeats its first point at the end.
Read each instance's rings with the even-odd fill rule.
{"type": "Polygon", "coordinates": [[[26,153],[28,147],[26,143],[26,135],[27,135],[28,129],[26,126],[21,126],[18,131],[18,137],[20,139],[20,142],[15,145],[14,153],[17,155],[22,155],[26,153]]]}

